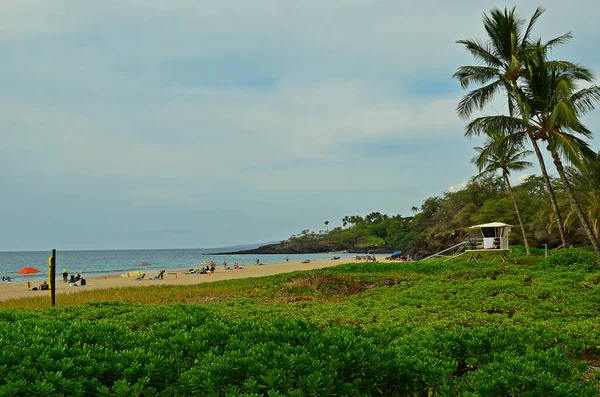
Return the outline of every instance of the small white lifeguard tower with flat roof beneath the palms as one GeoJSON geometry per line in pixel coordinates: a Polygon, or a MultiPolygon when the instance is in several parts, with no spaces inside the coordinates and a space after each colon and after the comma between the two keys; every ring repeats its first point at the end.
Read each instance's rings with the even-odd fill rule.
{"type": "Polygon", "coordinates": [[[483,254],[497,254],[503,263],[510,262],[508,253],[508,235],[512,225],[502,222],[484,223],[482,225],[471,226],[469,229],[479,229],[481,237],[469,238],[465,253],[469,255],[469,262],[478,262],[483,259],[483,254]]]}

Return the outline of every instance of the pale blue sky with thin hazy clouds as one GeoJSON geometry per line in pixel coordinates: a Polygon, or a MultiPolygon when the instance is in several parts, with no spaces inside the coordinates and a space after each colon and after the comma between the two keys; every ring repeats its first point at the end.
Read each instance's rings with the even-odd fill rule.
{"type": "MultiPolygon", "coordinates": [[[[411,215],[476,174],[456,40],[513,5],[537,6],[2,0],[0,251],[219,247],[411,215]]],[[[600,3],[542,5],[536,36],[572,31],[554,55],[600,74],[600,3]]]]}

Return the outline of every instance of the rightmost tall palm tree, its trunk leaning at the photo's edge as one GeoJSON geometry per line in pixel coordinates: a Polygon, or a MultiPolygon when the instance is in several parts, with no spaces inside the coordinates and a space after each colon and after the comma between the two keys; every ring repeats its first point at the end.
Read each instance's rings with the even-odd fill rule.
{"type": "Polygon", "coordinates": [[[523,75],[523,84],[515,93],[523,104],[520,117],[480,117],[469,124],[467,131],[481,133],[489,128],[504,134],[512,134],[516,130],[527,131],[534,141],[544,142],[571,206],[600,256],[598,239],[581,210],[562,161],[564,158],[568,163],[584,167],[585,159],[595,156],[582,139],[591,138],[592,133],[580,121],[580,116],[600,102],[600,87],[591,86],[576,91],[578,82],[593,81],[591,71],[569,62],[548,61],[547,48],[541,43],[529,46],[524,59],[527,72],[523,75]]]}

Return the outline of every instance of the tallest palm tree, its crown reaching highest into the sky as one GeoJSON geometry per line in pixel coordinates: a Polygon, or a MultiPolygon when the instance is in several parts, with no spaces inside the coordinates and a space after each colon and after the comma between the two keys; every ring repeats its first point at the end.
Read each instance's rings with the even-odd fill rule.
{"type": "MultiPolygon", "coordinates": [[[[544,13],[544,8],[538,7],[527,25],[525,25],[523,19],[516,15],[515,10],[516,7],[513,7],[511,10],[505,8],[504,11],[496,8],[490,11],[489,16],[483,16],[483,25],[488,36],[487,41],[458,41],[482,65],[461,66],[454,73],[453,77],[460,81],[463,88],[468,88],[472,84],[483,85],[469,92],[461,99],[456,109],[460,117],[469,118],[474,110],[483,110],[500,91],[503,91],[507,95],[508,110],[511,117],[514,116],[515,111],[524,113],[523,104],[517,95],[518,82],[526,72],[523,64],[525,49],[531,43],[530,37],[533,27],[544,13]]],[[[546,42],[544,45],[546,48],[551,49],[566,43],[571,37],[571,33],[569,32],[546,42]]],[[[550,183],[542,152],[534,137],[527,129],[513,132],[523,133],[533,145],[542,176],[544,177],[546,192],[552,204],[560,238],[562,243],[566,244],[562,217],[552,184],[550,183]]],[[[478,134],[478,131],[467,130],[465,135],[471,136],[476,133],[478,134]]]]}

